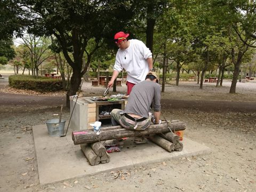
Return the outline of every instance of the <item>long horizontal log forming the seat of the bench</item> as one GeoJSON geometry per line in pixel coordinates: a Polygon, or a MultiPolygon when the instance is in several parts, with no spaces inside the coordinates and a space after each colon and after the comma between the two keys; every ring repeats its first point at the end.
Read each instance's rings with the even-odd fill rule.
{"type": "MultiPolygon", "coordinates": [[[[182,131],[186,129],[186,124],[183,122],[174,122],[170,123],[170,129],[172,131],[182,131]]],[[[167,123],[150,125],[147,129],[142,131],[125,129],[121,126],[110,126],[102,127],[101,133],[96,134],[93,130],[82,130],[82,131],[73,131],[72,139],[75,145],[83,143],[93,143],[111,139],[125,138],[125,137],[142,137],[143,135],[156,134],[156,133],[166,133],[170,132],[167,123]]]]}

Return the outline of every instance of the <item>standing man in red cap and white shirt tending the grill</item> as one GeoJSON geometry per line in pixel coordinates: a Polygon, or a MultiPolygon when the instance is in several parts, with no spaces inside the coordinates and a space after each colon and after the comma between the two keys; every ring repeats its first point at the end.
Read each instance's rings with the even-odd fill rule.
{"type": "Polygon", "coordinates": [[[108,87],[113,86],[115,79],[123,69],[127,72],[127,95],[132,87],[145,80],[149,71],[154,71],[152,53],[148,47],[137,39],[128,40],[129,34],[123,31],[114,36],[116,45],[119,47],[116,53],[113,75],[108,83],[108,87]]]}

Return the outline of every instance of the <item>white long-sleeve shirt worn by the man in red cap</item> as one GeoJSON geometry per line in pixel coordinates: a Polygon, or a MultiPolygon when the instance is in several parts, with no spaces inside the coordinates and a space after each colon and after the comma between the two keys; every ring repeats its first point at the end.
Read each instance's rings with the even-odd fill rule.
{"type": "Polygon", "coordinates": [[[118,72],[123,69],[127,72],[127,81],[137,84],[145,80],[149,66],[147,59],[152,58],[148,47],[137,39],[130,39],[130,45],[124,50],[118,49],[114,70],[118,72]]]}

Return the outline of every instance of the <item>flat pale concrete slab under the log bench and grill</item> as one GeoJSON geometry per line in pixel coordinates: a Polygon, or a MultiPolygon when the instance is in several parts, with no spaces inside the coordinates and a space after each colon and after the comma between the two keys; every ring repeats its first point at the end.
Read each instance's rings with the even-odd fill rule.
{"type": "Polygon", "coordinates": [[[91,166],[87,163],[80,146],[74,145],[71,131],[66,137],[50,137],[46,125],[35,125],[33,134],[41,184],[210,152],[209,147],[187,138],[183,138],[183,150],[172,153],[151,142],[135,145],[129,139],[125,141],[121,152],[110,153],[109,163],[91,166]]]}

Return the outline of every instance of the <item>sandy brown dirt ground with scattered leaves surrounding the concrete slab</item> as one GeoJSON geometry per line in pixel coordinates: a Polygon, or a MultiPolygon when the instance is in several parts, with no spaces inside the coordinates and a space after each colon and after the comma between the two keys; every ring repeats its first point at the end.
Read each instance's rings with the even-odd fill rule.
{"type": "MultiPolygon", "coordinates": [[[[200,90],[196,82],[173,82],[162,93],[162,117],[185,122],[185,137],[210,147],[210,154],[41,186],[31,129],[59,113],[65,93],[17,94],[0,79],[0,191],[255,191],[256,82],[237,83],[236,94],[228,93],[230,84],[205,83],[200,90]]],[[[105,88],[86,82],[82,90],[99,96],[105,88]]]]}

